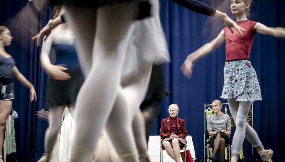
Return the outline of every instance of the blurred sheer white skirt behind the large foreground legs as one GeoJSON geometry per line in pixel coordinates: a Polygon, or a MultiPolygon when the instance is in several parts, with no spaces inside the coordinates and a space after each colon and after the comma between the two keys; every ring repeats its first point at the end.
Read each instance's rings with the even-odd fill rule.
{"type": "Polygon", "coordinates": [[[139,78],[152,64],[170,61],[167,42],[159,18],[159,1],[151,0],[152,17],[135,22],[122,70],[122,85],[139,78]]]}

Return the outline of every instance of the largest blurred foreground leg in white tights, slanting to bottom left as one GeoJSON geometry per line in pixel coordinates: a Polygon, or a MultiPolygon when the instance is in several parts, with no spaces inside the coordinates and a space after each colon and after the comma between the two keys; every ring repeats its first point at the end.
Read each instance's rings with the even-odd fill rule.
{"type": "MultiPolygon", "coordinates": [[[[67,12],[72,12],[74,9],[76,8],[66,8],[67,12]]],[[[88,22],[96,18],[96,37],[91,71],[77,97],[76,138],[71,161],[92,160],[102,127],[113,108],[127,43],[132,33],[134,22],[132,9],[132,3],[107,6],[97,10],[97,18],[86,17],[88,22]]],[[[70,22],[77,23],[77,20],[71,16],[70,22]]],[[[81,29],[75,28],[75,30],[81,29]]]]}

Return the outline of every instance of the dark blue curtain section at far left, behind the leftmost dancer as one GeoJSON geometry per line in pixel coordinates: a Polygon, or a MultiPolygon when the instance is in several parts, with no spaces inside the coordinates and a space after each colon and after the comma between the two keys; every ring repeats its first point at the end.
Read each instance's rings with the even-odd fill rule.
{"type": "MultiPolygon", "coordinates": [[[[37,1],[39,2],[39,1],[37,1]]],[[[43,2],[42,11],[38,11],[28,0],[0,1],[0,23],[7,26],[14,38],[6,51],[13,56],[19,71],[34,85],[37,102],[30,102],[29,89],[15,81],[15,99],[13,109],[19,117],[15,119],[15,138],[17,153],[7,157],[7,161],[35,161],[43,153],[46,121],[35,116],[36,111],[44,108],[47,76],[39,61],[39,48],[31,36],[39,32],[49,20],[51,9],[43,2]]]]}

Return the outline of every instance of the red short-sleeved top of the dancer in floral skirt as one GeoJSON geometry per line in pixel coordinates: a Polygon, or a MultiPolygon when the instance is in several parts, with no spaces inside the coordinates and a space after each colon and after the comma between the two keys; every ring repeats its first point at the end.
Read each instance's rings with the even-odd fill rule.
{"type": "Polygon", "coordinates": [[[224,34],[226,36],[226,60],[236,59],[249,59],[254,35],[254,26],[257,22],[244,20],[237,22],[240,27],[243,27],[246,31],[242,31],[243,36],[240,36],[238,30],[232,28],[234,34],[225,27],[224,34]]]}

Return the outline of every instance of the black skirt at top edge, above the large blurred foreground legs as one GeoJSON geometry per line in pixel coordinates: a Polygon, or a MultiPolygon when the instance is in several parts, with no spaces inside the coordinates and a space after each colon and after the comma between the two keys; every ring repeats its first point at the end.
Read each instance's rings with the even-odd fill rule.
{"type": "Polygon", "coordinates": [[[65,6],[72,5],[77,7],[96,9],[98,7],[103,7],[106,5],[128,3],[131,1],[136,1],[138,4],[137,15],[135,17],[137,20],[150,16],[151,4],[149,0],[50,0],[50,5],[55,6],[57,4],[61,4],[65,6]]]}

